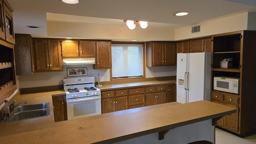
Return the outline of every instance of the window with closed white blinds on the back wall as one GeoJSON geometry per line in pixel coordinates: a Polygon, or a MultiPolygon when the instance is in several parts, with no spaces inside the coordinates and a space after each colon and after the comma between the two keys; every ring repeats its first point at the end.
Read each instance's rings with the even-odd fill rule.
{"type": "Polygon", "coordinates": [[[144,76],[143,44],[112,44],[112,79],[144,76]]]}

